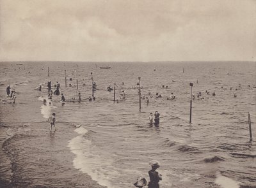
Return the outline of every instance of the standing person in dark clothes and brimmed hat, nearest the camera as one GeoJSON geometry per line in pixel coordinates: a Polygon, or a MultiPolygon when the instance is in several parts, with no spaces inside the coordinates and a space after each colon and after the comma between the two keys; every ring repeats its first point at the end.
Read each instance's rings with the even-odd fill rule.
{"type": "Polygon", "coordinates": [[[150,182],[148,183],[148,188],[159,188],[159,181],[162,180],[162,175],[159,174],[156,170],[160,167],[160,163],[156,160],[149,162],[152,169],[148,171],[150,182]]]}

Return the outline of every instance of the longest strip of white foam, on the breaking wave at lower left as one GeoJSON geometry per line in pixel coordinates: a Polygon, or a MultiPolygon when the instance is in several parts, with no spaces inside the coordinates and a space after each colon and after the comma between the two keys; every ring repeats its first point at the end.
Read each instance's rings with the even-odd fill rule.
{"type": "Polygon", "coordinates": [[[68,147],[71,152],[76,155],[73,160],[74,168],[83,173],[87,173],[93,180],[100,185],[114,188],[109,182],[109,177],[117,176],[115,170],[110,170],[109,167],[113,164],[111,157],[102,158],[100,154],[95,153],[95,146],[92,145],[90,140],[86,140],[83,136],[88,133],[83,126],[75,129],[75,132],[79,134],[76,138],[68,141],[68,147]]]}

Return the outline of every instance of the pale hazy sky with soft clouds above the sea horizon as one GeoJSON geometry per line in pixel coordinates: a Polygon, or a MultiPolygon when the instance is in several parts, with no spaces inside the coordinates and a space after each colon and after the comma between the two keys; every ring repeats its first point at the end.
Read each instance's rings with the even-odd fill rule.
{"type": "Polygon", "coordinates": [[[0,61],[256,61],[256,0],[0,0],[0,61]]]}

